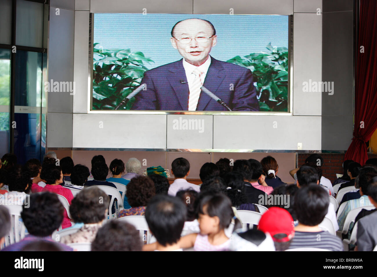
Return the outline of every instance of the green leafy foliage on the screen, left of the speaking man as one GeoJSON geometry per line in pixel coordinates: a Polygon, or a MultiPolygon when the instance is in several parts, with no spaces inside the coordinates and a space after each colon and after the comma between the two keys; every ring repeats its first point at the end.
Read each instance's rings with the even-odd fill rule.
{"type": "MultiPolygon", "coordinates": [[[[114,110],[140,86],[144,72],[148,70],[144,63],[153,63],[142,52],[106,50],[98,43],[94,44],[93,62],[93,110],[114,110]]],[[[123,109],[131,109],[134,102],[135,98],[132,98],[123,109]]]]}

